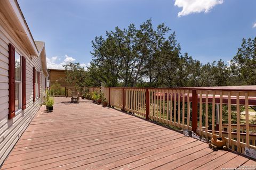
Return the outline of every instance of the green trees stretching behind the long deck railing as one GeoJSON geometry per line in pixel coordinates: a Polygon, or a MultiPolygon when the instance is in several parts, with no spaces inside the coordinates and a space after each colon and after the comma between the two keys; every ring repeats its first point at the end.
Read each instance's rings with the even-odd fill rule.
{"type": "MultiPolygon", "coordinates": [[[[139,29],[130,24],[92,41],[93,60],[87,69],[79,63],[64,65],[65,80],[79,87],[202,87],[256,84],[256,37],[243,39],[230,65],[224,61],[202,64],[181,54],[175,32],[151,20],[139,29]],[[69,72],[71,70],[72,72],[69,72]],[[86,70],[86,71],[85,71],[86,70]]],[[[236,50],[236,49],[234,49],[236,50]]]]}

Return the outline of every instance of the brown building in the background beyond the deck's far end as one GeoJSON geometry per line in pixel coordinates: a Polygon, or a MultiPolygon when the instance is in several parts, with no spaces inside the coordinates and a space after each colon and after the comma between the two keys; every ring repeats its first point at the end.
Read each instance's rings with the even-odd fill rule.
{"type": "Polygon", "coordinates": [[[47,71],[49,74],[50,87],[54,86],[55,84],[59,84],[61,87],[74,86],[74,84],[70,85],[64,80],[66,77],[65,70],[47,69],[47,71]]]}

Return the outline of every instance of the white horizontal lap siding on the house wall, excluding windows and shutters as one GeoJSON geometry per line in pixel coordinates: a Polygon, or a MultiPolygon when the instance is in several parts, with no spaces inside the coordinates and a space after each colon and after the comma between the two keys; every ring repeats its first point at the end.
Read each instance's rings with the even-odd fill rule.
{"type": "MultiPolygon", "coordinates": [[[[10,28],[11,27],[6,24],[6,21],[0,13],[0,165],[4,162],[5,158],[41,106],[41,99],[36,99],[36,101],[33,102],[33,67],[35,66],[37,71],[41,71],[41,87],[44,87],[45,77],[42,72],[41,58],[37,56],[30,56],[26,48],[23,47],[18,36],[15,35],[10,28]],[[15,47],[15,50],[20,55],[26,57],[26,109],[20,113],[15,113],[15,117],[11,120],[8,120],[9,43],[15,47]]],[[[40,96],[42,98],[42,94],[40,96]]]]}

